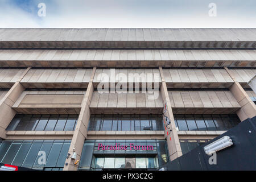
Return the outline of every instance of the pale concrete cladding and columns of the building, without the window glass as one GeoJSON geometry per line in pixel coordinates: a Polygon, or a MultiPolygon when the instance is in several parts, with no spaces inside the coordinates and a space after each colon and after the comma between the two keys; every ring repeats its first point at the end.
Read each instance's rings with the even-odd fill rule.
{"type": "Polygon", "coordinates": [[[252,28],[177,29],[183,36],[171,29],[70,29],[66,35],[56,29],[51,39],[44,29],[0,31],[0,138],[71,139],[68,153],[77,158],[65,160],[67,171],[78,169],[86,139],[165,139],[174,160],[182,155],[179,139],[224,132],[177,131],[174,114],[237,114],[241,121],[256,115],[256,95],[247,85],[256,74],[252,28]],[[9,31],[20,36],[5,36],[9,31]],[[23,37],[27,31],[45,35],[23,37]],[[92,114],[162,114],[165,106],[171,124],[163,131],[88,130],[92,114]],[[74,131],[7,131],[15,114],[79,118],[74,131]]]}

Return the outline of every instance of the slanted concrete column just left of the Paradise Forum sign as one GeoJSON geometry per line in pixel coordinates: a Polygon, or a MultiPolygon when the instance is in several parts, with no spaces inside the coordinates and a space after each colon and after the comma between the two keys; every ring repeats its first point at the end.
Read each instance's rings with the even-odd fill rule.
{"type": "Polygon", "coordinates": [[[77,164],[75,163],[77,160],[80,160],[82,147],[84,146],[84,140],[87,138],[87,129],[88,129],[89,119],[90,119],[90,101],[92,99],[93,90],[94,90],[93,77],[94,77],[95,71],[96,71],[96,67],[93,68],[92,76],[90,77],[90,82],[86,89],[85,96],[82,100],[81,110],[80,110],[79,118],[77,120],[76,129],[74,131],[73,138],[68,150],[68,153],[71,155],[65,161],[65,165],[63,168],[64,171],[76,171],[77,168],[79,167],[79,162],[77,164]],[[71,156],[74,151],[73,148],[75,148],[76,160],[71,159],[71,156]]]}

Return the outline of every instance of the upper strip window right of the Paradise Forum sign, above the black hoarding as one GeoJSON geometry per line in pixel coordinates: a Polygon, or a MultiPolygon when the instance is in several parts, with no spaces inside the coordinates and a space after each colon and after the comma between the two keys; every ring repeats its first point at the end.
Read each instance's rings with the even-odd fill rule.
{"type": "Polygon", "coordinates": [[[225,131],[240,123],[236,114],[177,114],[174,118],[177,131],[225,131]]]}

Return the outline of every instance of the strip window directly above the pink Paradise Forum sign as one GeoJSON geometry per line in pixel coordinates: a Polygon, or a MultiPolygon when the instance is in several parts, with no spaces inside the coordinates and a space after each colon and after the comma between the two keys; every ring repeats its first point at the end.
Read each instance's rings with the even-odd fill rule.
{"type": "Polygon", "coordinates": [[[164,130],[162,115],[91,115],[92,131],[164,130]]]}

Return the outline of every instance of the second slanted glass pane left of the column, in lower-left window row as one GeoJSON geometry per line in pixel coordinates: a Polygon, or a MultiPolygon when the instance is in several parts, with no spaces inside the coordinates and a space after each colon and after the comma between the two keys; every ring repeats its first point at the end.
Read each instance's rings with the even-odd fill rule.
{"type": "Polygon", "coordinates": [[[49,156],[46,160],[46,167],[56,167],[63,143],[53,143],[49,156]]]}

